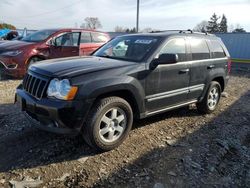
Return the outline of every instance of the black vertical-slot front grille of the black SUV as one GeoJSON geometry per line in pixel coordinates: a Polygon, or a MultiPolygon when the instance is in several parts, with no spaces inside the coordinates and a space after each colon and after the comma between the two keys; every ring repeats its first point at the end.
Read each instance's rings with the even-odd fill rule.
{"type": "Polygon", "coordinates": [[[26,92],[37,99],[46,96],[48,80],[31,74],[26,74],[23,79],[23,88],[26,92]]]}

